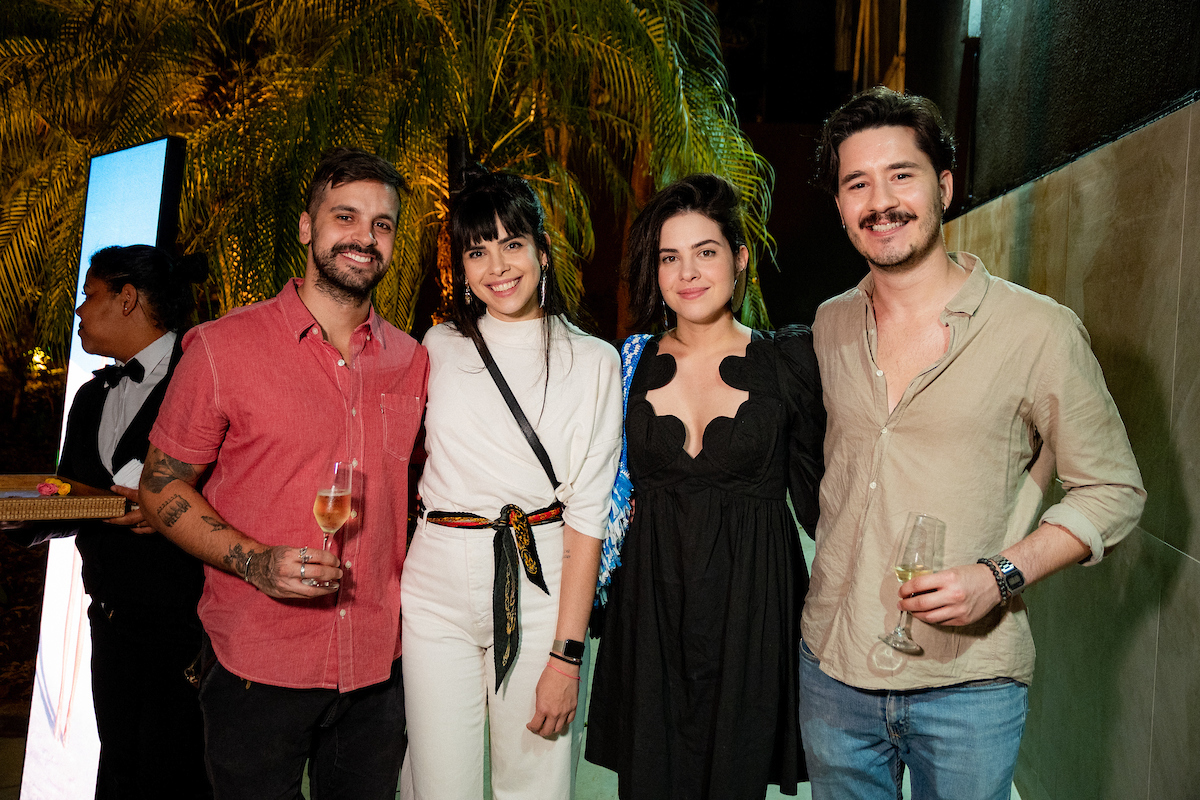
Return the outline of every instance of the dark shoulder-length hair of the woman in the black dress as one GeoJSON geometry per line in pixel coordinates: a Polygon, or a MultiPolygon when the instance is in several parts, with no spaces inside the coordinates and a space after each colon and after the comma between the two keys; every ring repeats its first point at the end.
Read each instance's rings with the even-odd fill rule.
{"type": "Polygon", "coordinates": [[[721,229],[734,253],[746,243],[742,198],[724,178],[700,173],[677,180],[650,198],[629,228],[625,275],[634,329],[649,331],[664,324],[662,290],[659,289],[659,240],[662,223],[680,213],[702,213],[721,229]]]}

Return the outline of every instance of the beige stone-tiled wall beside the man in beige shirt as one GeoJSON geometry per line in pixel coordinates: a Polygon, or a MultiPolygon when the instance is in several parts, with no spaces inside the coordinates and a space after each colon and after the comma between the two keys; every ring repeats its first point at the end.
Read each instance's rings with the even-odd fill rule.
{"type": "Polygon", "coordinates": [[[1108,559],[1028,591],[1021,796],[1200,798],[1200,103],[946,230],[1080,315],[1148,492],[1108,559]]]}

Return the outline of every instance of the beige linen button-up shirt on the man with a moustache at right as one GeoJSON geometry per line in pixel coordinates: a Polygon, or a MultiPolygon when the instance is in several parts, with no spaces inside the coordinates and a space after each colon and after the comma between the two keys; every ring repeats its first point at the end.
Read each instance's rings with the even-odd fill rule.
{"type": "MultiPolygon", "coordinates": [[[[918,374],[888,413],[874,282],[824,302],[812,326],[829,414],[812,583],[803,633],[821,668],[851,686],[914,690],[1033,676],[1033,639],[1020,597],[966,627],[913,620],[923,656],[881,668],[878,634],[900,612],[893,561],[911,511],[946,523],[943,566],[974,564],[1028,535],[1042,501],[1039,473],[1057,459],[1066,492],[1042,521],[1104,548],[1136,524],[1145,489],[1124,426],[1067,307],[970,270],[941,320],[946,354],[918,374]],[[1042,447],[1036,467],[1028,467],[1042,447]],[[1046,452],[1049,450],[1049,452],[1046,452]]],[[[896,654],[899,655],[899,654],[896,654]]]]}

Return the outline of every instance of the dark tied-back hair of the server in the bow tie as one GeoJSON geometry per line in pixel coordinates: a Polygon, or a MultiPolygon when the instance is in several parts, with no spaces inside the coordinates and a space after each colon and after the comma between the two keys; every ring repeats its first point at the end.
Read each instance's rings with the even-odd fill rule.
{"type": "Polygon", "coordinates": [[[196,309],[192,284],[208,276],[208,259],[196,254],[176,260],[150,245],[114,246],[92,253],[88,273],[103,281],[110,291],[132,285],[150,323],[178,332],[191,324],[196,309]]]}

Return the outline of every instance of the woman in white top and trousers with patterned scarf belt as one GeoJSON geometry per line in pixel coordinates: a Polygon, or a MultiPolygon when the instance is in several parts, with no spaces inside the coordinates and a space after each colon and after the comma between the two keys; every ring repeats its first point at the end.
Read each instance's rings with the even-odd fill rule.
{"type": "Polygon", "coordinates": [[[524,180],[468,179],[451,205],[450,248],[451,320],[425,337],[428,458],[402,587],[402,783],[418,800],[479,800],[486,722],[493,796],[564,800],[620,449],[620,363],[568,319],[524,180]]]}

